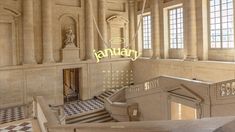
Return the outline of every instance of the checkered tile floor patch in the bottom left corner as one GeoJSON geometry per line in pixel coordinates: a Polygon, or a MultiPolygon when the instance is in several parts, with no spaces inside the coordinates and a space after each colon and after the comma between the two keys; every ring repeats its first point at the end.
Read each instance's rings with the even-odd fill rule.
{"type": "Polygon", "coordinates": [[[32,132],[32,131],[33,129],[31,122],[23,122],[20,124],[15,124],[0,128],[0,132],[32,132]]]}

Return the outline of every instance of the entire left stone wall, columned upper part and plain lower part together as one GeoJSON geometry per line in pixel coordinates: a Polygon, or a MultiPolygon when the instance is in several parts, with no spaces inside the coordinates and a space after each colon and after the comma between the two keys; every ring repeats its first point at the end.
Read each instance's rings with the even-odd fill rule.
{"type": "MultiPolygon", "coordinates": [[[[129,40],[128,0],[0,0],[0,108],[29,103],[35,95],[63,104],[63,69],[81,69],[81,99],[107,88],[103,71],[131,71],[124,58],[96,63],[93,50],[106,46],[99,41],[93,16],[105,41],[119,34],[129,40]],[[125,22],[112,25],[119,34],[109,31],[110,17],[125,22]],[[67,29],[74,34],[69,49],[67,29]]],[[[116,86],[121,84],[110,85],[116,86]]]]}

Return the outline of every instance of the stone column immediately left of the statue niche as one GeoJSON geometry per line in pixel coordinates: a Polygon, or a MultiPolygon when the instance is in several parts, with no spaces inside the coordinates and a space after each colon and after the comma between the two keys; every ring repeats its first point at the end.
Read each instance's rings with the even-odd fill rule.
{"type": "Polygon", "coordinates": [[[42,0],[43,63],[53,63],[52,0],[42,0]]]}

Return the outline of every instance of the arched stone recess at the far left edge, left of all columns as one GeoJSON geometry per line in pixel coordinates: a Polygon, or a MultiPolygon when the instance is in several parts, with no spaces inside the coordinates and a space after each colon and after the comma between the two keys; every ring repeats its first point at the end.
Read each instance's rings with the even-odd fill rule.
{"type": "Polygon", "coordinates": [[[0,6],[0,66],[20,64],[19,16],[20,12],[0,6]]]}

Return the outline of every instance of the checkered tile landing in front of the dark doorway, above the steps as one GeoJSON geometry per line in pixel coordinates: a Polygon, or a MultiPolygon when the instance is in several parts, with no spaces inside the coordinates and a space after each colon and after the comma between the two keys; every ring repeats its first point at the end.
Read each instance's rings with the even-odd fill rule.
{"type": "Polygon", "coordinates": [[[86,101],[78,101],[64,105],[66,116],[80,114],[91,110],[104,108],[103,102],[98,99],[90,99],[86,101]]]}

